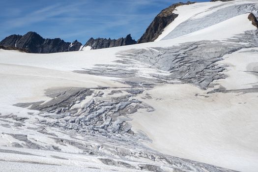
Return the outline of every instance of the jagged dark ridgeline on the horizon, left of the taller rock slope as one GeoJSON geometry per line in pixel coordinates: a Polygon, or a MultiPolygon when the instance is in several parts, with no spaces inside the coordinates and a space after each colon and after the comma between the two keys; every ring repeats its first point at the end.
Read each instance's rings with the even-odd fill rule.
{"type": "MultiPolygon", "coordinates": [[[[131,34],[125,38],[106,39],[106,38],[90,38],[84,47],[89,46],[90,49],[102,49],[110,47],[118,47],[124,45],[136,44],[132,39],[131,34]]],[[[75,40],[74,42],[64,42],[60,38],[44,39],[36,32],[28,32],[25,35],[10,35],[0,42],[0,46],[8,47],[2,48],[5,50],[17,50],[18,48],[27,53],[58,53],[79,51],[82,44],[75,40]]]]}

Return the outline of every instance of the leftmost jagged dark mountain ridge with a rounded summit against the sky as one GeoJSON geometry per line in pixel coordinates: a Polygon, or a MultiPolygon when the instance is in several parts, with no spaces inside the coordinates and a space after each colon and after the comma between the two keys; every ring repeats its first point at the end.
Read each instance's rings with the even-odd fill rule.
{"type": "Polygon", "coordinates": [[[60,38],[44,39],[36,32],[29,31],[25,35],[10,35],[0,42],[1,46],[18,47],[26,49],[30,53],[57,53],[67,51],[79,51],[82,44],[74,42],[64,42],[60,38]]]}

